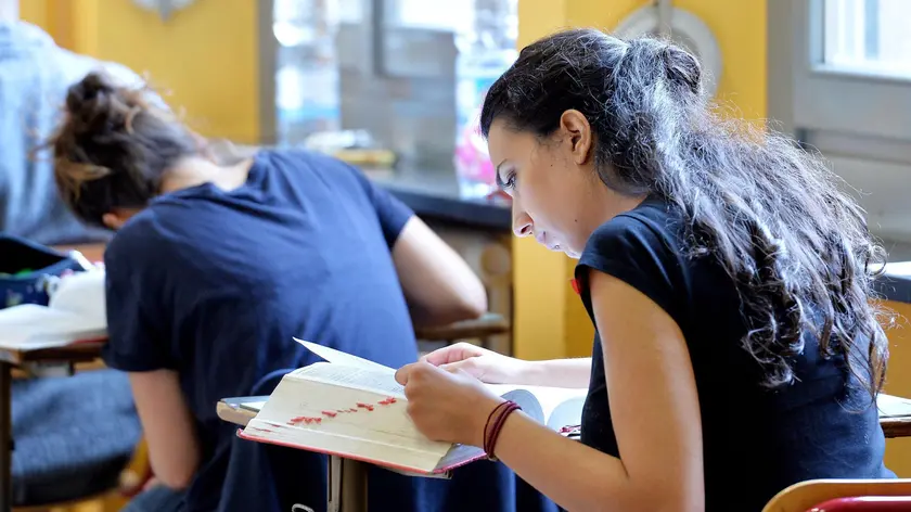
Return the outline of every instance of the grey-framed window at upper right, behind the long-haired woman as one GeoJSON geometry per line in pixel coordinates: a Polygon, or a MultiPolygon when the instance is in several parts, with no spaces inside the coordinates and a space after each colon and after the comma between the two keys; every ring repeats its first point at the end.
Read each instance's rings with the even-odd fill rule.
{"type": "Polygon", "coordinates": [[[911,1],[769,0],[769,117],[911,241],[911,1]]]}

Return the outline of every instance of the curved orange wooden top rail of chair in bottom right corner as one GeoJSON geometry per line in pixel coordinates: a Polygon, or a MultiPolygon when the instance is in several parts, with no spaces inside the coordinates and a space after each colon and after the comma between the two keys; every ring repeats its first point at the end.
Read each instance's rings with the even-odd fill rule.
{"type": "MultiPolygon", "coordinates": [[[[762,512],[808,512],[827,500],[874,496],[911,497],[911,478],[812,479],[800,482],[775,495],[766,504],[762,512]]],[[[860,511],[868,509],[841,510],[860,511]]]]}

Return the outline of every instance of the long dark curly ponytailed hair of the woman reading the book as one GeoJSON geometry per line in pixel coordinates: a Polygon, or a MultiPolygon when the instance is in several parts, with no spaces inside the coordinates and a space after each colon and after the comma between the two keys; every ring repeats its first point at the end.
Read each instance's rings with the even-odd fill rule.
{"type": "Polygon", "coordinates": [[[570,108],[594,131],[601,181],[665,197],[687,220],[685,251],[717,257],[731,276],[743,348],[766,370],[765,385],[795,380],[794,356],[810,332],[823,357],[843,357],[875,396],[888,345],[872,281],[885,252],[818,155],[719,116],[698,62],[681,48],[594,29],[525,48],[488,91],[482,132],[502,118],[548,137],[570,108]]]}

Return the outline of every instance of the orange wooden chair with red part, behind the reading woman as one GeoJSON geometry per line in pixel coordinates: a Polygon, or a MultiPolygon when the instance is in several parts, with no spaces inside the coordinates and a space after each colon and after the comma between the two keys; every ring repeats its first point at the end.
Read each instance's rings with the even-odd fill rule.
{"type": "Polygon", "coordinates": [[[911,478],[800,482],[775,495],[762,512],[887,512],[896,510],[911,510],[911,478]],[[868,499],[872,497],[877,499],[868,499]]]}

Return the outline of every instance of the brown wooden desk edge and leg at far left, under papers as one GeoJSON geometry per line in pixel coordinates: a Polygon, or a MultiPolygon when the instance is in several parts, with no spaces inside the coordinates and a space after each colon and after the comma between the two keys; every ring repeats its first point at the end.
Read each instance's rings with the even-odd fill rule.
{"type": "Polygon", "coordinates": [[[68,347],[39,350],[12,350],[0,348],[0,512],[13,509],[13,426],[12,426],[12,372],[13,368],[29,362],[69,364],[91,361],[101,354],[103,342],[80,343],[68,347]],[[2,443],[7,446],[3,447],[2,443]]]}

